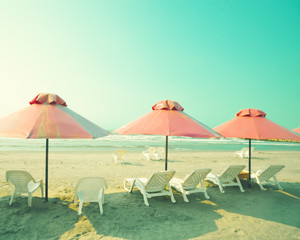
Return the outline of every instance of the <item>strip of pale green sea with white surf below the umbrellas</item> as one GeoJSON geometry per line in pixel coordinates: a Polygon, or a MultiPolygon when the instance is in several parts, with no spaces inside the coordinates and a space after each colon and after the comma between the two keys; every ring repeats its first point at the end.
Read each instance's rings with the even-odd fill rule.
{"type": "MultiPolygon", "coordinates": [[[[237,151],[248,147],[243,139],[201,139],[169,137],[169,150],[237,151]]],[[[45,139],[0,138],[0,151],[45,151],[45,139]]],[[[98,139],[49,139],[49,149],[55,151],[144,151],[148,147],[164,147],[165,137],[157,135],[109,135],[98,139]]],[[[300,143],[252,140],[260,151],[300,151],[300,143]]]]}

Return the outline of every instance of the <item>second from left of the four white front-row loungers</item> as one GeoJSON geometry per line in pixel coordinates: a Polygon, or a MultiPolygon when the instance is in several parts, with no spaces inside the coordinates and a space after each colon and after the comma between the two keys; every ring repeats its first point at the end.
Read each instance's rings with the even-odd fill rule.
{"type": "Polygon", "coordinates": [[[206,199],[209,199],[209,196],[206,192],[205,186],[203,184],[203,179],[211,171],[210,168],[197,169],[191,174],[185,176],[183,180],[173,177],[170,181],[171,187],[175,188],[178,192],[182,193],[183,200],[189,202],[186,195],[191,193],[203,192],[206,199]],[[201,187],[198,187],[198,185],[201,187]]]}

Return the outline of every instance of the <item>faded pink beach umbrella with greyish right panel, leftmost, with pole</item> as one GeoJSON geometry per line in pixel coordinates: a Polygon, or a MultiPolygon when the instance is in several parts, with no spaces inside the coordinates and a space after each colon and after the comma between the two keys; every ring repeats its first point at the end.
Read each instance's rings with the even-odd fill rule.
{"type": "Polygon", "coordinates": [[[99,138],[109,133],[75,113],[58,95],[41,93],[30,106],[0,119],[0,136],[46,139],[45,198],[48,201],[48,145],[50,138],[99,138]]]}

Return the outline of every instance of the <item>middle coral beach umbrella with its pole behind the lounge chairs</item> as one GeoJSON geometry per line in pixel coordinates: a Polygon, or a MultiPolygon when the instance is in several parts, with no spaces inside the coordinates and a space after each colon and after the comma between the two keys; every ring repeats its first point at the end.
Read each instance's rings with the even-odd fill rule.
{"type": "Polygon", "coordinates": [[[183,107],[170,100],[159,101],[146,115],[120,127],[114,132],[121,135],[144,134],[166,136],[165,170],[168,168],[168,137],[219,138],[213,129],[183,112],[183,107]]]}

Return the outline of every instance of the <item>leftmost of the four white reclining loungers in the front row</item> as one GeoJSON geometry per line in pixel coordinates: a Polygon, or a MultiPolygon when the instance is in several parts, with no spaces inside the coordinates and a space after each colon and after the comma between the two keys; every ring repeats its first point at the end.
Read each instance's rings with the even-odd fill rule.
{"type": "Polygon", "coordinates": [[[175,171],[154,172],[148,179],[147,178],[125,178],[124,188],[128,192],[136,187],[144,196],[144,202],[149,206],[148,198],[159,196],[170,196],[171,201],[175,203],[175,198],[171,186],[169,184],[171,178],[174,176],[175,171]],[[168,190],[166,190],[168,187],[168,190]]]}

